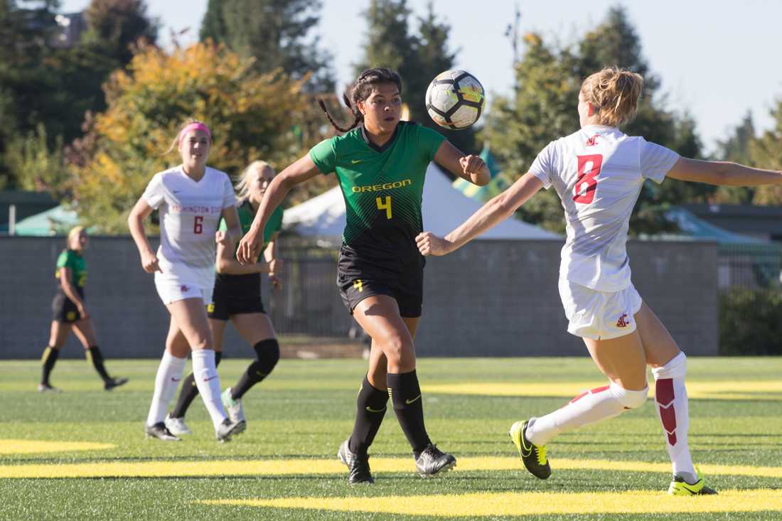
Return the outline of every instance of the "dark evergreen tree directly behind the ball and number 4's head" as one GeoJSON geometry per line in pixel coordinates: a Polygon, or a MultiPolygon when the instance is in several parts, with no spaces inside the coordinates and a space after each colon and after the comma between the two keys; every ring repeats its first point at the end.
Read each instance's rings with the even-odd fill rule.
{"type": "Polygon", "coordinates": [[[475,131],[452,131],[439,127],[424,103],[429,82],[443,70],[454,66],[456,52],[448,48],[450,26],[439,20],[432,2],[427,4],[424,16],[418,18],[418,31],[411,31],[408,20],[411,9],[407,0],[372,0],[364,12],[368,21],[364,56],[354,68],[362,70],[385,66],[402,77],[402,99],[410,110],[410,119],[445,135],[465,153],[475,151],[475,131]]]}

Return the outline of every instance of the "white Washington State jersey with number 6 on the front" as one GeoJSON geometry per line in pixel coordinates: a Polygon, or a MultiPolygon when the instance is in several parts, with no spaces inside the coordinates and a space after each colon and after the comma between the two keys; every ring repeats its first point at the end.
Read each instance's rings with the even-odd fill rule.
{"type": "Polygon", "coordinates": [[[203,178],[194,181],[181,166],[174,167],[155,174],[143,197],[160,210],[157,257],[162,273],[156,278],[211,288],[217,223],[224,208],[236,205],[228,174],[206,167],[203,178]]]}

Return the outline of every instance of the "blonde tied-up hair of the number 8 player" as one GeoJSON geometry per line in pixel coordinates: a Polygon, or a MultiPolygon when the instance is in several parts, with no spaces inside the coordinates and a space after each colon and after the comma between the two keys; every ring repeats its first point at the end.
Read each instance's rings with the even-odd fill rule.
{"type": "Polygon", "coordinates": [[[590,74],[581,84],[584,101],[597,108],[600,124],[619,127],[633,120],[644,78],[617,66],[590,74]]]}

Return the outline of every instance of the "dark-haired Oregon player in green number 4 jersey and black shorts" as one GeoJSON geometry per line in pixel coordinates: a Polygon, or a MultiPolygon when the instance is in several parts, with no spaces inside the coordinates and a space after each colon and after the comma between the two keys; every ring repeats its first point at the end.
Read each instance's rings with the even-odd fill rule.
{"type": "Polygon", "coordinates": [[[400,121],[401,91],[395,72],[364,70],[344,96],[353,125],[339,128],[326,112],[344,134],[314,146],[274,178],[237,251],[240,262],[254,262],[264,243],[264,225],[292,186],[335,172],[346,203],[337,285],[346,307],[372,338],[356,423],[338,452],[350,483],[373,482],[367,450],[389,397],[418,473],[435,476],[456,465],[452,455],[432,444],[424,426],[413,339],[421,318],[425,261],[415,236],[421,231],[421,194],[432,160],[476,185],[489,182],[490,173],[479,157],[465,156],[436,131],[400,121]]]}

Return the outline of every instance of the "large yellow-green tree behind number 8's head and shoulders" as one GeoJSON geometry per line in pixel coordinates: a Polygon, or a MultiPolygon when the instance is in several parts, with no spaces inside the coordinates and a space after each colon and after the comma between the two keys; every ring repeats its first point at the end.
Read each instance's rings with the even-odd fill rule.
{"type": "MultiPolygon", "coordinates": [[[[534,33],[527,34],[523,43],[526,52],[516,63],[515,93],[512,98],[495,100],[482,135],[492,143],[492,151],[505,171],[512,172],[515,178],[527,171],[548,142],[578,129],[576,99],[581,82],[604,66],[620,66],[644,76],[637,117],[624,131],[643,135],[687,156],[700,155],[694,120],[688,114],[678,116],[665,110],[665,99],[658,95],[658,78],[651,73],[640,39],[623,8],[610,9],[604,22],[576,45],[557,49],[534,33]]],[[[706,185],[685,186],[671,180],[662,185],[647,182],[631,217],[630,231],[672,231],[676,225],[665,219],[665,211],[671,205],[705,200],[712,192],[706,185]]],[[[520,215],[556,232],[565,228],[561,204],[554,194],[536,196],[522,207],[520,215]]]]}

